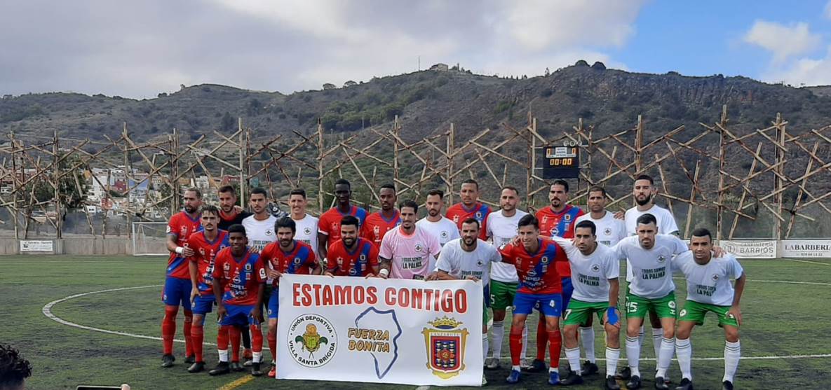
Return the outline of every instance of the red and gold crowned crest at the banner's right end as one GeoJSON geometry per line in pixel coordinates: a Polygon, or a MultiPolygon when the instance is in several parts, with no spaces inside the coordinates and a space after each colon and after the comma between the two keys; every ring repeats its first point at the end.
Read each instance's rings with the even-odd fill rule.
{"type": "Polygon", "coordinates": [[[465,369],[465,344],[470,332],[460,327],[460,321],[447,317],[427,324],[430,328],[421,331],[427,348],[427,368],[442,379],[459,375],[465,369]]]}

